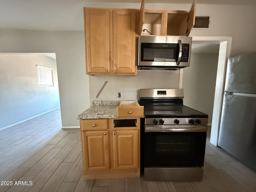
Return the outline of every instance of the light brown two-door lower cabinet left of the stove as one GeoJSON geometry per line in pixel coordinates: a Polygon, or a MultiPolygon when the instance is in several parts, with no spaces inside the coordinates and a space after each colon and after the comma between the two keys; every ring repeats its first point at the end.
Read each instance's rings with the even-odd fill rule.
{"type": "Polygon", "coordinates": [[[140,176],[140,118],[80,120],[80,132],[84,179],[140,176]]]}

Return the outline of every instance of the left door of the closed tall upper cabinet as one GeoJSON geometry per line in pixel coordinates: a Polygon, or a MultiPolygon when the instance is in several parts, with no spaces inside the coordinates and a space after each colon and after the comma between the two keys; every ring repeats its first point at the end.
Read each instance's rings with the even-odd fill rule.
{"type": "Polygon", "coordinates": [[[110,11],[84,8],[86,74],[109,73],[110,11]]]}

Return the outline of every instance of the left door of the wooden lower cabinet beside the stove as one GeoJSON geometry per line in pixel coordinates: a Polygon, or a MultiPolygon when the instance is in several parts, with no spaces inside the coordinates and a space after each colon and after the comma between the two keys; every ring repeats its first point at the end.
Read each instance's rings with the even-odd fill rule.
{"type": "Polygon", "coordinates": [[[109,169],[108,131],[82,132],[86,171],[109,169]]]}

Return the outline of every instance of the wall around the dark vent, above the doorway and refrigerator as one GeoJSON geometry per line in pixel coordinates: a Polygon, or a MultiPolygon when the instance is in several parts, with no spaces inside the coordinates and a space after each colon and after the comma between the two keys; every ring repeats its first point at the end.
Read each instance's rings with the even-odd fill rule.
{"type": "Polygon", "coordinates": [[[232,37],[231,57],[256,51],[256,6],[198,4],[196,15],[210,16],[210,28],[190,36],[232,37]]]}

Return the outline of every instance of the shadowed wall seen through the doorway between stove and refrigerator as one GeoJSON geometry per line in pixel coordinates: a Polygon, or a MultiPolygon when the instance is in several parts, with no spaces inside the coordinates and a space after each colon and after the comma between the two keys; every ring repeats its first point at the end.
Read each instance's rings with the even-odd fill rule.
{"type": "Polygon", "coordinates": [[[208,114],[212,110],[218,65],[218,54],[191,54],[190,67],[183,69],[184,105],[208,114]]]}

